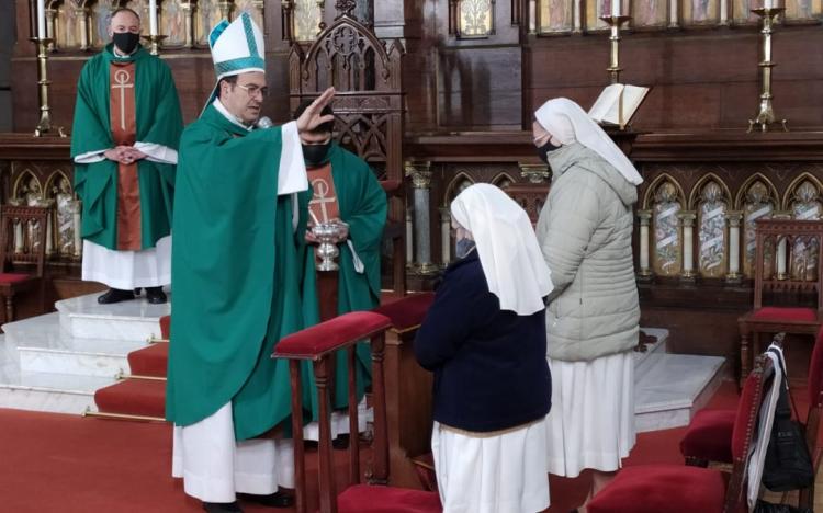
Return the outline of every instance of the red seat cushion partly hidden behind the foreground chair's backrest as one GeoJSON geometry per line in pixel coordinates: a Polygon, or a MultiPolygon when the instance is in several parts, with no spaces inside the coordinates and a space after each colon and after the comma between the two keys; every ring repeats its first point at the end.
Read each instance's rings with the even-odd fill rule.
{"type": "Polygon", "coordinates": [[[700,410],[680,441],[686,457],[709,461],[732,463],[734,410],[700,410]]]}

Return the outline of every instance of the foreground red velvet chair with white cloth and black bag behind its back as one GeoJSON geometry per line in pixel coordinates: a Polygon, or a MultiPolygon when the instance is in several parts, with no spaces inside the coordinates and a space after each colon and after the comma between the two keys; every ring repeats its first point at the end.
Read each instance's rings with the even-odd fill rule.
{"type": "Polygon", "coordinates": [[[757,426],[763,384],[774,372],[759,356],[746,378],[732,434],[732,475],[680,465],[625,467],[588,503],[590,513],[739,513],[747,512],[749,446],[757,426]]]}

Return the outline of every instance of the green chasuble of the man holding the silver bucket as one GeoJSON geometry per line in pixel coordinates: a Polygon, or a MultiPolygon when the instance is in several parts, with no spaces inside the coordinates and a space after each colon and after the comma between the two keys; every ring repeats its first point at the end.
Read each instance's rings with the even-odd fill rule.
{"type": "MultiPolygon", "coordinates": [[[[377,182],[369,164],[360,157],[332,144],[328,152],[331,164],[331,178],[335,182],[340,219],[349,225],[349,240],[351,240],[358,258],[363,262],[363,272],[354,271],[349,244],[338,244],[340,265],[337,312],[371,310],[380,305],[380,248],[383,228],[386,224],[387,201],[383,187],[377,182]]],[[[312,196],[301,195],[303,204],[307,204],[312,196]]],[[[302,227],[301,227],[302,228],[302,227]]],[[[305,231],[303,228],[301,231],[305,231]]],[[[305,240],[305,239],[304,239],[305,240]]],[[[317,289],[315,267],[315,246],[303,244],[304,280],[303,294],[306,299],[304,317],[306,326],[319,322],[320,312],[317,300],[308,300],[317,289]]],[[[357,355],[358,365],[358,399],[362,398],[364,388],[371,383],[371,351],[368,343],[359,343],[357,355]]],[[[335,374],[334,408],[345,408],[348,404],[348,376],[346,353],[337,355],[337,372],[335,374]]],[[[316,396],[313,397],[316,400],[316,396]]],[[[313,410],[316,411],[315,404],[313,410]]],[[[314,420],[317,420],[314,418],[314,420]]]]}

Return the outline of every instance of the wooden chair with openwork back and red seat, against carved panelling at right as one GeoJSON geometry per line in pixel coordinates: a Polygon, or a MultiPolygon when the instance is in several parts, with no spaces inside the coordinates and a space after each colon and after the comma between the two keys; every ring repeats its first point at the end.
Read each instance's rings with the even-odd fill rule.
{"type": "MultiPolygon", "coordinates": [[[[751,368],[752,355],[763,351],[760,333],[794,333],[816,335],[823,324],[823,221],[793,220],[793,219],[765,219],[757,220],[755,240],[755,281],[754,281],[754,308],[737,319],[741,334],[741,381],[745,379],[751,368]],[[785,267],[778,262],[781,246],[785,239],[785,267]],[[799,239],[818,241],[815,280],[803,280],[803,276],[793,276],[790,262],[794,241],[799,239]],[[769,248],[770,258],[767,259],[766,249],[769,248]],[[767,265],[768,262],[768,265],[767,265]],[[782,267],[782,269],[781,269],[782,267]],[[785,270],[788,270],[786,272],[785,270]],[[793,296],[802,299],[803,295],[813,296],[816,305],[807,306],[801,303],[792,306],[764,306],[764,295],[793,296]]],[[[807,297],[807,299],[811,299],[807,297]]]]}

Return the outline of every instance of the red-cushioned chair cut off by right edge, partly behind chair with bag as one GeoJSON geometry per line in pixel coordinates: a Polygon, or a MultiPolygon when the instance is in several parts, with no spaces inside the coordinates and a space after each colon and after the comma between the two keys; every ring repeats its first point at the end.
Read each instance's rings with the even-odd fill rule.
{"type": "MultiPolygon", "coordinates": [[[[815,474],[820,465],[818,438],[820,436],[820,418],[823,412],[823,329],[818,332],[818,340],[809,363],[809,384],[807,387],[809,410],[805,418],[805,443],[812,455],[815,474]]],[[[800,415],[800,412],[798,412],[800,415]]],[[[734,410],[700,410],[689,423],[680,441],[680,453],[686,465],[707,467],[710,461],[732,463],[732,432],[734,431],[734,410]]],[[[801,420],[801,419],[798,419],[801,420]]],[[[800,491],[800,505],[812,508],[814,483],[800,491]]]]}

